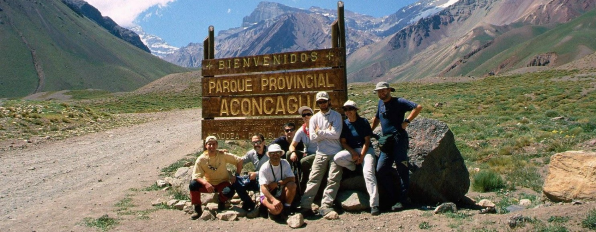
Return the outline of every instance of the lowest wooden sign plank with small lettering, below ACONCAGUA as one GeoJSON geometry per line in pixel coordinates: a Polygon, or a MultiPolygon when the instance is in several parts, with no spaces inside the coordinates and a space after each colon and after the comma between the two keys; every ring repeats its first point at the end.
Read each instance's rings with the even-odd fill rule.
{"type": "Polygon", "coordinates": [[[284,135],[281,126],[285,123],[293,122],[296,129],[304,123],[302,118],[285,117],[269,119],[219,119],[202,120],[203,138],[215,135],[218,139],[250,139],[253,135],[260,133],[265,136],[265,140],[272,141],[284,135]]]}

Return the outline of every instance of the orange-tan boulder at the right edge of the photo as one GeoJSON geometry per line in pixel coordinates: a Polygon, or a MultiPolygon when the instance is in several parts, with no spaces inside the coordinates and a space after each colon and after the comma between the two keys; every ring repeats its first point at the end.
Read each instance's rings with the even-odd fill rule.
{"type": "Polygon", "coordinates": [[[566,151],[552,155],[542,190],[554,202],[596,200],[596,152],[566,151]]]}

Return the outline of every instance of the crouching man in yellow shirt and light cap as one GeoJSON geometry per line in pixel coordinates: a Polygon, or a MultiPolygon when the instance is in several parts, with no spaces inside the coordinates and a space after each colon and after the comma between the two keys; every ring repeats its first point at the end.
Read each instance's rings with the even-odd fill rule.
{"type": "Polygon", "coordinates": [[[242,171],[242,159],[237,155],[218,150],[218,139],[215,136],[207,136],[205,139],[205,151],[199,155],[194,163],[193,180],[190,189],[190,201],[194,205],[195,213],[191,219],[201,217],[201,192],[219,192],[218,209],[225,209],[225,202],[234,196],[234,190],[230,187],[236,181],[235,175],[230,175],[226,164],[234,164],[236,172],[242,171]]]}

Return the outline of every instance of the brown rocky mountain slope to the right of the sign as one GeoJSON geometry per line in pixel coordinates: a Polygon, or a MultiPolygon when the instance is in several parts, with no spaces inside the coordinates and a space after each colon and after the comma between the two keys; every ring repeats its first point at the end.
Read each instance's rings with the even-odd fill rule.
{"type": "MultiPolygon", "coordinates": [[[[526,66],[532,62],[530,59],[549,52],[549,47],[545,45],[551,41],[566,42],[563,37],[552,33],[548,37],[539,37],[541,34],[570,23],[593,9],[594,2],[462,0],[403,28],[382,42],[354,52],[348,59],[348,81],[489,75],[526,66]],[[517,49],[502,53],[533,38],[538,39],[532,43],[543,46],[535,47],[535,51],[517,49]],[[547,51],[539,52],[541,49],[547,51]],[[504,57],[488,62],[499,53],[504,57]]],[[[591,30],[588,33],[592,33],[591,30]]],[[[584,43],[575,47],[583,46],[587,50],[586,55],[594,52],[596,46],[589,45],[587,41],[584,43]]],[[[571,53],[575,49],[561,47],[560,50],[571,53]]]]}

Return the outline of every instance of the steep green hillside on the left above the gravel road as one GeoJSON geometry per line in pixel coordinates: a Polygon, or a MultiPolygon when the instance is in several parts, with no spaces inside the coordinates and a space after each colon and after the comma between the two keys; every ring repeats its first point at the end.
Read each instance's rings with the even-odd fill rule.
{"type": "Polygon", "coordinates": [[[58,0],[0,1],[0,8],[0,98],[132,91],[188,70],[114,37],[58,0]]]}

